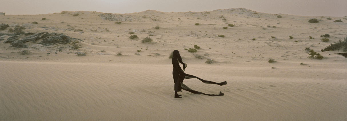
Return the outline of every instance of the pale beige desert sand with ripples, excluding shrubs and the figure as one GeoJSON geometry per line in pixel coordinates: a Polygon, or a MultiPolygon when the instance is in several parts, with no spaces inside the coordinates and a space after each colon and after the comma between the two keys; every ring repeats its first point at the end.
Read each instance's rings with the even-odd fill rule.
{"type": "Polygon", "coordinates": [[[9,28],[0,31],[8,34],[0,37],[0,121],[346,121],[347,58],[336,54],[342,50],[321,50],[344,40],[347,17],[327,18],[245,8],[1,15],[0,23],[12,29],[21,25],[25,33],[61,33],[81,41],[44,46],[40,39],[18,48],[3,43],[13,34],[9,28]],[[312,18],[319,23],[309,23],[312,18]],[[343,22],[333,22],[338,19],[343,22]],[[139,38],[130,39],[129,32],[139,38]],[[324,34],[330,41],[320,40],[324,34]],[[153,41],[142,43],[147,36],[153,41]],[[201,47],[196,53],[185,50],[195,44],[201,47]],[[324,58],[309,58],[306,47],[324,58]],[[228,82],[185,79],[185,85],[225,95],[183,90],[183,98],[174,98],[173,50],[188,64],[187,74],[228,82]]]}

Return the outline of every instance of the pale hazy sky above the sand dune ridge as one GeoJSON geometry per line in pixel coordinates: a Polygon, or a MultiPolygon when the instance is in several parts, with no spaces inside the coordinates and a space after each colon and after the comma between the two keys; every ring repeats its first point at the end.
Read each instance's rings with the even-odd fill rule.
{"type": "Polygon", "coordinates": [[[229,8],[298,16],[347,16],[347,0],[0,0],[0,12],[6,15],[52,14],[63,10],[124,14],[145,10],[201,12],[229,8]]]}

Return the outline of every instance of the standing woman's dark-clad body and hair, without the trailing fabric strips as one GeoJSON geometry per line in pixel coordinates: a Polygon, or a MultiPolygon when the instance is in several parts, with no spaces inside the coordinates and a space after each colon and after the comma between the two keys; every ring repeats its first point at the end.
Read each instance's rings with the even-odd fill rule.
{"type": "Polygon", "coordinates": [[[181,83],[183,83],[185,76],[178,62],[183,64],[183,70],[185,70],[187,64],[183,63],[178,50],[174,50],[174,52],[172,53],[172,66],[174,67],[174,70],[172,70],[172,76],[174,77],[175,83],[175,98],[182,98],[180,97],[181,95],[177,94],[177,92],[181,92],[181,83]]]}

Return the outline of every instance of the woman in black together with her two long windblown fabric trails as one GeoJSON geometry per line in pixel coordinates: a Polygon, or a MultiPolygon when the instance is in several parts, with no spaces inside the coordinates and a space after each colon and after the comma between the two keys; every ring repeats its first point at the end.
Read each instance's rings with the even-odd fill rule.
{"type": "Polygon", "coordinates": [[[179,66],[179,63],[183,64],[183,70],[186,69],[187,64],[183,63],[181,55],[179,55],[178,50],[174,50],[174,52],[172,52],[172,66],[174,67],[174,70],[172,70],[172,76],[174,77],[174,83],[175,83],[175,98],[182,98],[180,97],[181,95],[177,94],[177,92],[181,92],[181,89],[183,88],[184,90],[194,93],[194,94],[203,94],[203,95],[209,95],[209,96],[222,96],[224,95],[222,92],[219,92],[219,94],[205,94],[202,92],[198,92],[195,91],[191,88],[189,88],[188,86],[183,84],[183,80],[184,79],[191,79],[191,78],[196,78],[199,79],[200,81],[202,81],[205,84],[216,84],[216,85],[226,85],[227,81],[223,81],[221,83],[216,83],[213,81],[208,81],[208,80],[203,80],[199,77],[193,76],[193,75],[189,75],[189,74],[185,74],[184,71],[181,69],[181,67],[179,66]]]}

